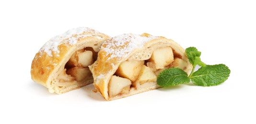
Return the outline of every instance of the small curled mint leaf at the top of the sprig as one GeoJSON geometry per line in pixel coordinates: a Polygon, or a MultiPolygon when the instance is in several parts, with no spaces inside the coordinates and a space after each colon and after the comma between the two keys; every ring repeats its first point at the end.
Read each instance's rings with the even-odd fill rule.
{"type": "Polygon", "coordinates": [[[186,48],[186,55],[187,55],[189,62],[193,66],[195,66],[196,65],[195,58],[200,57],[201,52],[199,52],[196,47],[188,47],[188,48],[186,48]]]}

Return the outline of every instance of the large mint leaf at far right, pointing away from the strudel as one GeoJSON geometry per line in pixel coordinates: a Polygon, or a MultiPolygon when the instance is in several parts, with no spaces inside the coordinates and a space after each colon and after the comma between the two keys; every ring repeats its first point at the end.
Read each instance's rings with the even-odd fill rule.
{"type": "Polygon", "coordinates": [[[194,72],[190,79],[199,86],[216,86],[226,81],[229,74],[230,70],[224,64],[206,65],[194,72]]]}

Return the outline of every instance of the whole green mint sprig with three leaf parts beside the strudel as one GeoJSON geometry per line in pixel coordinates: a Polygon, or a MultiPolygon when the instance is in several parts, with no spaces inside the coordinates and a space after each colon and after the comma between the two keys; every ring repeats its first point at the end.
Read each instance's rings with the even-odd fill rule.
{"type": "Polygon", "coordinates": [[[186,55],[193,69],[189,76],[179,68],[170,68],[161,72],[157,77],[157,84],[162,87],[174,86],[181,83],[192,83],[198,86],[216,86],[225,82],[230,74],[229,68],[224,64],[206,65],[201,61],[201,52],[195,47],[186,49],[186,55]],[[196,65],[201,66],[195,71],[196,65]]]}

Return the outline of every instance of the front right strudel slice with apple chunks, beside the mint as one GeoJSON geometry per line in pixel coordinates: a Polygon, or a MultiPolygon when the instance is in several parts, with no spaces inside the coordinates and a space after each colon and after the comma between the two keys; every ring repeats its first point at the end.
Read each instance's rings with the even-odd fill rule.
{"type": "Polygon", "coordinates": [[[158,74],[171,67],[191,71],[185,50],[175,41],[144,33],[108,39],[89,69],[95,88],[106,100],[115,100],[159,88],[158,74]]]}

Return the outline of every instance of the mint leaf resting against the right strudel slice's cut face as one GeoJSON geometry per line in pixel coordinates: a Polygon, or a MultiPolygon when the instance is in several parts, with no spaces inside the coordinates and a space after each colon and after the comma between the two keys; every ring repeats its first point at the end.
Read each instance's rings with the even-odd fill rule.
{"type": "Polygon", "coordinates": [[[175,86],[181,83],[189,83],[187,73],[180,68],[169,68],[161,72],[157,77],[157,84],[162,87],[175,86]]]}

